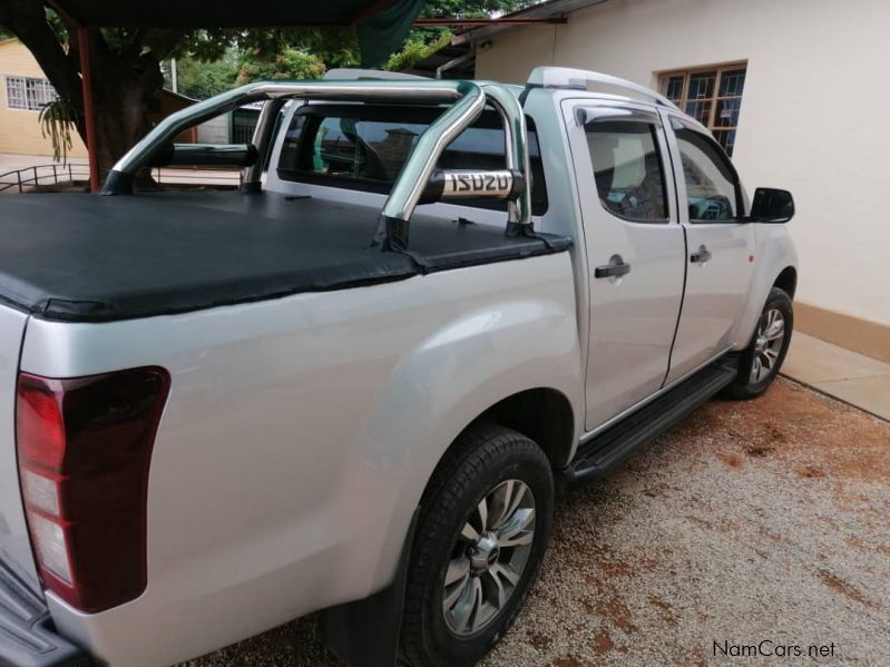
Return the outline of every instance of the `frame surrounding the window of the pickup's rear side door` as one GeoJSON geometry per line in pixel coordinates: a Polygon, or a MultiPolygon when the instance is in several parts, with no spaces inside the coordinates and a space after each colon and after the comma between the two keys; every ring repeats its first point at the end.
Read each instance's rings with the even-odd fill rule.
{"type": "Polygon", "coordinates": [[[674,206],[673,202],[676,188],[674,187],[673,175],[667,170],[671,151],[667,141],[665,141],[664,122],[662,122],[662,118],[658,116],[658,114],[655,111],[644,111],[629,107],[593,107],[589,109],[581,107],[581,110],[584,110],[586,114],[584,122],[580,124],[581,131],[584,133],[585,144],[587,146],[587,157],[590,160],[590,178],[593,179],[593,186],[594,190],[596,190],[596,199],[599,203],[599,207],[608,215],[626,223],[636,223],[640,225],[669,225],[672,222],[671,214],[674,206]],[[635,122],[651,126],[653,145],[655,147],[656,154],[658,155],[658,168],[662,173],[662,192],[664,195],[665,217],[635,218],[622,215],[620,213],[607,208],[603,204],[603,199],[599,196],[599,189],[596,185],[596,168],[594,166],[594,156],[590,151],[590,146],[588,143],[589,139],[587,130],[588,126],[595,125],[597,122],[635,122]]]}

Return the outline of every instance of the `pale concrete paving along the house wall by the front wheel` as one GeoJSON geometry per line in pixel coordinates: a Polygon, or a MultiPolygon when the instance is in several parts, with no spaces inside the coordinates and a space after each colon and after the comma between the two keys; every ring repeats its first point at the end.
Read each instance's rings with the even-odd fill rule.
{"type": "Polygon", "coordinates": [[[890,364],[794,332],[782,374],[890,420],[890,364]]]}

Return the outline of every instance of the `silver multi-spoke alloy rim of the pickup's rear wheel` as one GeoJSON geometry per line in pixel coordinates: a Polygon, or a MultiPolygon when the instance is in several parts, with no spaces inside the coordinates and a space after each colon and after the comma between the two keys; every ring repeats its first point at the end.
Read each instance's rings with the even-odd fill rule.
{"type": "Polygon", "coordinates": [[[535,541],[535,496],[507,480],[486,493],[461,529],[444,576],[442,611],[452,632],[488,626],[516,591],[535,541]]]}

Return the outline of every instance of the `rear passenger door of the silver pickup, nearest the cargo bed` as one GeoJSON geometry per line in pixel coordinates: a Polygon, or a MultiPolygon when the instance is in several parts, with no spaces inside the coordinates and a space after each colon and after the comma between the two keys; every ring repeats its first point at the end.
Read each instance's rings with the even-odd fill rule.
{"type": "Polygon", "coordinates": [[[586,426],[657,392],[683,298],[685,245],[662,120],[645,105],[564,101],[589,272],[586,426]]]}

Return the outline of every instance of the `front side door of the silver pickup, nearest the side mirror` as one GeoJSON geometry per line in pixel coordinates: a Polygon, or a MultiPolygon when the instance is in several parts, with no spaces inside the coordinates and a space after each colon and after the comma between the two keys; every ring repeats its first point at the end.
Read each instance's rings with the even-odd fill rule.
{"type": "Polygon", "coordinates": [[[720,145],[697,126],[663,111],[686,230],[686,294],[667,382],[727,351],[754,275],[754,227],[720,145]]]}

